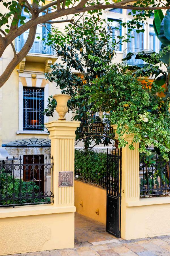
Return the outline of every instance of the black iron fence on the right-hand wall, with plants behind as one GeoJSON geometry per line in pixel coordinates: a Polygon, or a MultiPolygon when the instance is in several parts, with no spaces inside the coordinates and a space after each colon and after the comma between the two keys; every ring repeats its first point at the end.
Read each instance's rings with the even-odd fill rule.
{"type": "Polygon", "coordinates": [[[140,195],[167,195],[170,193],[170,161],[157,154],[140,158],[140,195]]]}

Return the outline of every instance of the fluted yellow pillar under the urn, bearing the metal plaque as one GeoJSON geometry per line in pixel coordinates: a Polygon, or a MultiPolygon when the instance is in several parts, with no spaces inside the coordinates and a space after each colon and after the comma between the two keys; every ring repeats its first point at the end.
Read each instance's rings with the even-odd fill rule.
{"type": "Polygon", "coordinates": [[[53,193],[54,206],[74,206],[74,150],[75,131],[80,122],[52,121],[46,123],[50,132],[51,156],[54,158],[53,193]],[[73,186],[58,187],[59,172],[73,171],[73,186]]]}

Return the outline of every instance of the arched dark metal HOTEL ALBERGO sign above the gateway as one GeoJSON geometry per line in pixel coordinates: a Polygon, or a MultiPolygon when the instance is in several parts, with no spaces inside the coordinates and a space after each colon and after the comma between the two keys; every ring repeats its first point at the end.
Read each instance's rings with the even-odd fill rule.
{"type": "Polygon", "coordinates": [[[90,123],[88,126],[82,125],[80,128],[81,133],[89,133],[92,135],[104,135],[104,134],[114,134],[113,127],[108,126],[105,123],[90,123]]]}

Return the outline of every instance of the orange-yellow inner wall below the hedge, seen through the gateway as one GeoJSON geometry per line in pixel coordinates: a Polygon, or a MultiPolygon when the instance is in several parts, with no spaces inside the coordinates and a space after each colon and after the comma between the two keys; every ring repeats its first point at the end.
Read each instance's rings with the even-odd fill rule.
{"type": "Polygon", "coordinates": [[[75,179],[76,212],[106,224],[106,190],[75,179]],[[83,207],[80,205],[83,201],[83,207]],[[99,215],[95,213],[99,208],[99,215]]]}

